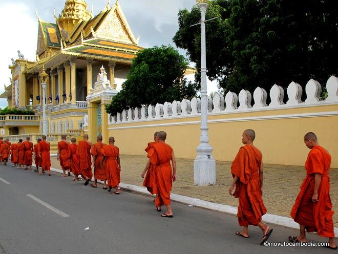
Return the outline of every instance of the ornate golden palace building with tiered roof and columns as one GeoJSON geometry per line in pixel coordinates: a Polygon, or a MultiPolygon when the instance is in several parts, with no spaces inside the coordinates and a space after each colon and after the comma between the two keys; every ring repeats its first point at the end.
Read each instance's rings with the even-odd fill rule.
{"type": "Polygon", "coordinates": [[[55,23],[36,16],[36,61],[26,60],[18,51],[18,59],[9,66],[11,84],[0,96],[8,99],[10,109],[29,109],[35,115],[0,116],[2,135],[42,133],[44,93],[39,74],[44,69],[50,140],[59,139],[59,134],[82,136],[85,116],[91,139],[97,134],[108,139],[105,105],[117,94],[132,59],[142,50],[118,0],[112,7],[108,2],[95,16],[84,0],[67,0],[58,16],[54,11],[55,23]]]}

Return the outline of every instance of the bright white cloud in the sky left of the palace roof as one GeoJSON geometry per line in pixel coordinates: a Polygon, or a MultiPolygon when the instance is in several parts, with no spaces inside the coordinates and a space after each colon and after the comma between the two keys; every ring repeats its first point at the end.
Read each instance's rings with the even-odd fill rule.
{"type": "MultiPolygon", "coordinates": [[[[11,58],[17,59],[17,51],[20,50],[28,60],[35,60],[37,19],[33,18],[27,5],[5,4],[0,5],[0,24],[2,26],[2,37],[0,41],[0,93],[4,92],[4,84],[10,84],[11,58]],[[19,13],[19,15],[18,15],[19,13]]],[[[0,100],[0,108],[7,106],[7,100],[0,100]]]]}

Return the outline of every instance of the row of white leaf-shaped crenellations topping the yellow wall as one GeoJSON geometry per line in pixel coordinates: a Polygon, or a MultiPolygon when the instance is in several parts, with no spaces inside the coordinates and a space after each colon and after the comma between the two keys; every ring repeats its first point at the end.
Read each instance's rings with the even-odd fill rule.
{"type": "MultiPolygon", "coordinates": [[[[321,84],[313,79],[310,79],[305,87],[307,98],[301,101],[303,89],[300,84],[291,82],[287,88],[288,100],[284,103],[284,90],[282,87],[274,84],[270,89],[270,103],[267,105],[267,92],[258,87],[254,92],[254,105],[251,105],[251,93],[242,90],[239,95],[228,92],[225,96],[215,94],[212,99],[208,96],[207,108],[208,114],[226,114],[250,111],[256,109],[285,109],[290,107],[308,107],[309,105],[322,105],[338,103],[338,78],[331,76],[326,83],[326,90],[328,96],[325,100],[320,100],[322,91],[321,84]],[[239,107],[238,107],[239,101],[239,107]]],[[[191,101],[183,99],[182,101],[165,102],[164,104],[157,103],[149,105],[148,107],[142,106],[141,108],[123,110],[117,113],[116,116],[109,114],[109,124],[126,123],[132,121],[149,121],[157,119],[165,119],[171,117],[187,117],[198,116],[201,114],[201,99],[193,98],[191,101]]],[[[86,116],[85,116],[86,122],[86,116]]]]}

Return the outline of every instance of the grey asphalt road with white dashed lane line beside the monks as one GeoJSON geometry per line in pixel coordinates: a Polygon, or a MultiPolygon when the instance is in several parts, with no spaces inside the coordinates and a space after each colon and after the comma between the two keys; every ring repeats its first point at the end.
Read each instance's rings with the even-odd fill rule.
{"type": "MultiPolygon", "coordinates": [[[[261,246],[258,228],[244,239],[234,234],[235,216],[180,203],[172,204],[174,218],[161,218],[151,197],[110,195],[101,186],[60,176],[0,166],[0,253],[333,253],[324,247],[261,246]]],[[[297,234],[273,229],[271,242],[297,234]]],[[[323,241],[313,234],[308,238],[323,241]]]]}

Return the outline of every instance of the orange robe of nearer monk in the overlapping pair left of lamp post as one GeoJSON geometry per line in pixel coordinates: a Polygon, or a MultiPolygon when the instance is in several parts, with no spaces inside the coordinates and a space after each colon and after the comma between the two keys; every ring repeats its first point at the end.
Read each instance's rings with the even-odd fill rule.
{"type": "Polygon", "coordinates": [[[154,165],[155,181],[153,182],[153,193],[157,194],[156,206],[169,205],[170,192],[173,187],[173,170],[170,164],[173,149],[170,145],[156,142],[151,146],[147,156],[154,165]]]}

